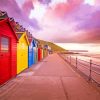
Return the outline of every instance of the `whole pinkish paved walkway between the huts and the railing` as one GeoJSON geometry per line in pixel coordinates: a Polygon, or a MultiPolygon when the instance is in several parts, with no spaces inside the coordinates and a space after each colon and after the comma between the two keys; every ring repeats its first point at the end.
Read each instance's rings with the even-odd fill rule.
{"type": "Polygon", "coordinates": [[[0,100],[100,100],[100,93],[52,54],[1,87],[0,100]]]}

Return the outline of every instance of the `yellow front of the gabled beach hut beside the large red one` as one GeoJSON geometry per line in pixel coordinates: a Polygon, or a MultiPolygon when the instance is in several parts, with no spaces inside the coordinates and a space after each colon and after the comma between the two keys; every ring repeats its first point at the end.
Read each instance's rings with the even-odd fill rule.
{"type": "Polygon", "coordinates": [[[17,44],[17,73],[26,68],[28,68],[28,44],[25,35],[23,35],[17,44]]]}

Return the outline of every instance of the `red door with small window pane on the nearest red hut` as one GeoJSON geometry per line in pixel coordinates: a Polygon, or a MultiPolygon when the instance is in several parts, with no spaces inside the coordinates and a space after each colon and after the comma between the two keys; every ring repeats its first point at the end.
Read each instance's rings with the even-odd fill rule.
{"type": "Polygon", "coordinates": [[[11,77],[10,39],[0,36],[0,84],[11,77]]]}

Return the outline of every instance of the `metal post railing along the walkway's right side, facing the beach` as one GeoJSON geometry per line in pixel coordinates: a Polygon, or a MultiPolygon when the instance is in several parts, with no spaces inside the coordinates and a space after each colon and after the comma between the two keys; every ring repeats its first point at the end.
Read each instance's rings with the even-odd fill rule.
{"type": "Polygon", "coordinates": [[[88,77],[89,81],[94,81],[100,86],[100,65],[93,63],[93,60],[82,60],[77,56],[63,56],[59,54],[65,61],[67,61],[71,66],[80,70],[83,74],[88,77]]]}

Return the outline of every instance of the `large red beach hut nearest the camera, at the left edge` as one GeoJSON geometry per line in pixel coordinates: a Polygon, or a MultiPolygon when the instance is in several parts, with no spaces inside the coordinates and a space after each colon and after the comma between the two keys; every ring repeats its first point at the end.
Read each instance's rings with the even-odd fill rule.
{"type": "Polygon", "coordinates": [[[0,84],[16,76],[17,41],[9,19],[0,14],[0,84]]]}

